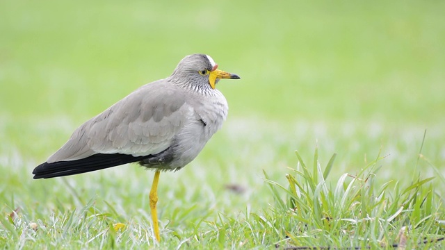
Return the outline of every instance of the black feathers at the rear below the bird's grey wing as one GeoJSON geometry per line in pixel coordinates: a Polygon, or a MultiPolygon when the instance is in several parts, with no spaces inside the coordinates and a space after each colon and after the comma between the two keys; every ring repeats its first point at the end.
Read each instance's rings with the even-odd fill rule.
{"type": "Polygon", "coordinates": [[[150,156],[131,156],[122,153],[97,153],[79,160],[42,163],[35,167],[33,174],[35,179],[69,176],[134,163],[149,157],[150,156]]]}

